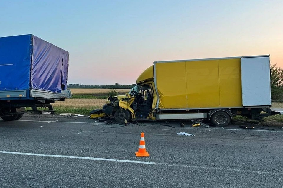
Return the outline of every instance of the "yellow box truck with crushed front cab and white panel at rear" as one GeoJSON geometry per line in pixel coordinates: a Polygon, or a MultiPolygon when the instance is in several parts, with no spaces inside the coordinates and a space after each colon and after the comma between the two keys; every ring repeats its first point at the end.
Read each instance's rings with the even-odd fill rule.
{"type": "Polygon", "coordinates": [[[269,63],[269,55],[155,61],[129,93],[108,97],[103,112],[118,122],[261,120],[272,113],[269,63]]]}

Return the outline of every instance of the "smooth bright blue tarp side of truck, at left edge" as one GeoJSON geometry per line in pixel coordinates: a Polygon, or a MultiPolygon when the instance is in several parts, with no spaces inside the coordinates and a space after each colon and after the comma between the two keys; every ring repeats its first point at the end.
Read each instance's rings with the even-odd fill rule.
{"type": "Polygon", "coordinates": [[[0,38],[0,91],[29,90],[31,36],[0,38]]]}

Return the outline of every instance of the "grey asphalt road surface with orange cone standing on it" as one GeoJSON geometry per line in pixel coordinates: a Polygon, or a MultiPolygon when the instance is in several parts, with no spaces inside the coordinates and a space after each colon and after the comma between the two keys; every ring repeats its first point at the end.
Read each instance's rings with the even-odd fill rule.
{"type": "Polygon", "coordinates": [[[0,121],[0,187],[283,187],[283,125],[95,121],[0,121]],[[135,156],[141,132],[149,157],[135,156]]]}

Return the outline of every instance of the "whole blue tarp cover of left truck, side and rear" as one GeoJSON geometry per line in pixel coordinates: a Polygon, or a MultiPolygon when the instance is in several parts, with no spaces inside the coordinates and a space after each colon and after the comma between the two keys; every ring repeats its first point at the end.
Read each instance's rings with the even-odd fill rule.
{"type": "Polygon", "coordinates": [[[34,35],[0,38],[0,91],[67,88],[69,53],[34,35]]]}

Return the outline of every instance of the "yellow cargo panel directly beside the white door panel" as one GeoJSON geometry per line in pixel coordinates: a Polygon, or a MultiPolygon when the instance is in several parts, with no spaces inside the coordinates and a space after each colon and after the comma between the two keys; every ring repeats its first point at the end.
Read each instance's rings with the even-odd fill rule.
{"type": "Polygon", "coordinates": [[[219,60],[220,106],[241,107],[241,59],[219,60]]]}

